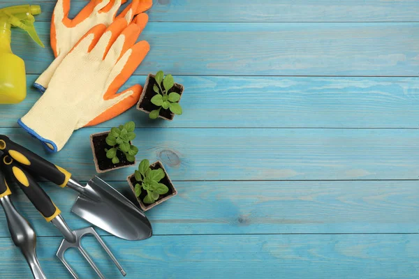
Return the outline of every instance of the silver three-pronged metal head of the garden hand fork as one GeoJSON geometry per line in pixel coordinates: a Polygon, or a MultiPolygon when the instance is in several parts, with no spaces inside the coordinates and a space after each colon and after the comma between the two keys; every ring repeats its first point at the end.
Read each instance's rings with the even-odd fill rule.
{"type": "MultiPolygon", "coordinates": [[[[96,271],[99,278],[105,279],[105,276],[103,276],[103,274],[98,269],[96,264],[94,264],[93,260],[89,256],[89,254],[87,254],[87,251],[82,248],[81,240],[82,240],[82,237],[85,236],[86,234],[91,234],[96,238],[96,240],[101,244],[103,249],[105,249],[105,251],[111,257],[112,261],[118,267],[119,271],[121,271],[122,276],[126,276],[126,272],[124,271],[124,269],[122,269],[122,266],[119,264],[119,262],[117,261],[115,256],[109,250],[108,246],[106,246],[106,244],[101,239],[101,236],[99,236],[97,234],[97,232],[93,229],[93,227],[84,227],[83,229],[75,229],[73,231],[73,234],[75,236],[74,242],[68,241],[67,238],[64,238],[63,241],[61,241],[61,245],[59,246],[59,248],[57,250],[57,257],[64,264],[64,266],[66,266],[67,270],[71,273],[73,278],[75,278],[75,279],[78,278],[77,273],[75,273],[75,271],[71,268],[71,266],[68,264],[68,262],[66,262],[66,259],[64,257],[64,253],[66,252],[66,250],[68,250],[68,248],[76,248],[82,254],[84,259],[86,259],[87,262],[89,262],[90,266],[94,269],[94,271],[96,271]]],[[[69,239],[71,239],[71,237],[69,239]]]]}

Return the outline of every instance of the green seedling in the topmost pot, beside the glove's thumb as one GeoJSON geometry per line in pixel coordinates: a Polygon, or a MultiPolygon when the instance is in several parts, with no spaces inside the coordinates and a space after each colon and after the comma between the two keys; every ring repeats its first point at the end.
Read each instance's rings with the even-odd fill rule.
{"type": "Polygon", "coordinates": [[[170,110],[170,112],[174,114],[182,114],[182,107],[177,103],[180,99],[180,95],[176,92],[171,92],[173,85],[175,85],[175,81],[173,80],[172,75],[166,75],[164,77],[164,73],[162,70],[156,73],[156,77],[154,77],[157,84],[154,84],[153,90],[156,92],[156,95],[152,98],[152,103],[159,108],[157,110],[152,110],[150,112],[149,117],[151,119],[156,119],[159,117],[160,110],[170,110]],[[161,83],[163,82],[163,87],[161,83]]]}

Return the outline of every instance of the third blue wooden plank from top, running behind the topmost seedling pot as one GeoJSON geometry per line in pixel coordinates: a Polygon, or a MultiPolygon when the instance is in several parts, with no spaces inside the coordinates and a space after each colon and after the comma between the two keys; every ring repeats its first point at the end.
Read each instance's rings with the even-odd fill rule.
{"type": "MultiPolygon", "coordinates": [[[[1,105],[0,127],[17,126],[41,96],[28,75],[28,96],[1,105]]],[[[135,121],[142,128],[419,128],[417,77],[191,77],[177,76],[186,90],[184,114],[150,121],[132,109],[103,128],[135,121]]],[[[144,84],[133,76],[125,87],[144,84]]]]}

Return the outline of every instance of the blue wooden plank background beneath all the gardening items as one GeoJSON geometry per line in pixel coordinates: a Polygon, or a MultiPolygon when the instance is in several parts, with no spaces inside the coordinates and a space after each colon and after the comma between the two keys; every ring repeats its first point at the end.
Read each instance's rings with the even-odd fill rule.
{"type": "MultiPolygon", "coordinates": [[[[36,29],[48,45],[54,1],[27,2],[43,8],[36,29]]],[[[74,15],[87,1],[72,3],[74,15]]],[[[155,0],[142,34],[151,51],[128,83],[172,73],[184,115],[150,121],[133,109],[55,155],[16,123],[52,51],[15,30],[28,97],[0,106],[0,133],[86,181],[89,135],[135,121],[137,158],[162,160],[179,195],[147,211],[151,239],[99,231],[126,278],[418,278],[418,14],[417,0],[155,0]]],[[[126,192],[133,169],[102,177],[126,192]]],[[[75,193],[43,186],[71,227],[87,225],[70,212],[75,193]]],[[[61,236],[14,194],[48,278],[70,278],[55,257],[61,236]]],[[[31,278],[2,213],[0,223],[0,277],[31,278]]],[[[108,278],[122,277],[94,239],[83,244],[108,278]]],[[[77,252],[66,257],[94,278],[77,252]]]]}

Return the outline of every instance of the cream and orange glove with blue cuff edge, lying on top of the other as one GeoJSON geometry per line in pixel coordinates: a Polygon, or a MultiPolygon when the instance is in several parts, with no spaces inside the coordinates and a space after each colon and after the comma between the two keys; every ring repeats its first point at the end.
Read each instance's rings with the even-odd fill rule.
{"type": "Polygon", "coordinates": [[[146,14],[131,24],[119,18],[108,28],[98,24],[86,33],[61,61],[43,96],[18,121],[20,126],[48,151],[57,152],[74,130],[112,119],[135,105],[142,86],[117,91],[149,52],[145,40],[135,43],[147,20],[146,14]]]}

